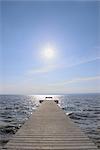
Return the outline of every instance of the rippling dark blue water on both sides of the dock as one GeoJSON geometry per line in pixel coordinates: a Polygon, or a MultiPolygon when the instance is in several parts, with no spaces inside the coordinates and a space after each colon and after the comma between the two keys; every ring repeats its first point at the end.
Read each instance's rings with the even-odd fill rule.
{"type": "MultiPolygon", "coordinates": [[[[46,95],[0,95],[0,145],[23,125],[46,95]]],[[[66,115],[100,148],[100,94],[52,95],[66,115]]]]}

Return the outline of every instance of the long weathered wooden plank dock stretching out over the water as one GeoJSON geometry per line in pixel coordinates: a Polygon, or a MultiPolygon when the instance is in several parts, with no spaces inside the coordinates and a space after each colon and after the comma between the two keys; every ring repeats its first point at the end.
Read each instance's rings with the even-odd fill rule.
{"type": "Polygon", "coordinates": [[[54,101],[44,101],[6,144],[7,150],[97,150],[54,101]]]}

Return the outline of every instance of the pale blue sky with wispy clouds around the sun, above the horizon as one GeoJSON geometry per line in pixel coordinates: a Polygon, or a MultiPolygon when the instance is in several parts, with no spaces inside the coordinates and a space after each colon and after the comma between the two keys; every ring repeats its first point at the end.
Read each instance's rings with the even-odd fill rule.
{"type": "Polygon", "coordinates": [[[99,92],[99,5],[2,1],[0,93],[99,92]],[[55,52],[52,59],[41,57],[48,43],[55,52]]]}

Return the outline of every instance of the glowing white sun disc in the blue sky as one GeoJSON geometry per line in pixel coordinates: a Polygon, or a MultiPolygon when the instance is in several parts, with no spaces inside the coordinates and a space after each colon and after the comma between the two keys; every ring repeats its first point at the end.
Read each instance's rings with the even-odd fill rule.
{"type": "Polygon", "coordinates": [[[45,49],[43,50],[43,57],[45,59],[52,59],[55,56],[55,50],[54,48],[52,48],[51,46],[47,46],[45,47],[45,49]]]}

